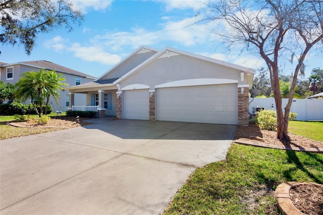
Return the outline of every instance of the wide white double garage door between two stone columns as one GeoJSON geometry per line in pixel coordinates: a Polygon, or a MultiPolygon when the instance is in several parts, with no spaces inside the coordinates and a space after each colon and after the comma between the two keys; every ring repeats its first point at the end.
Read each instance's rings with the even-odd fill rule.
{"type": "Polygon", "coordinates": [[[238,124],[237,84],[156,89],[156,120],[238,124]]]}

